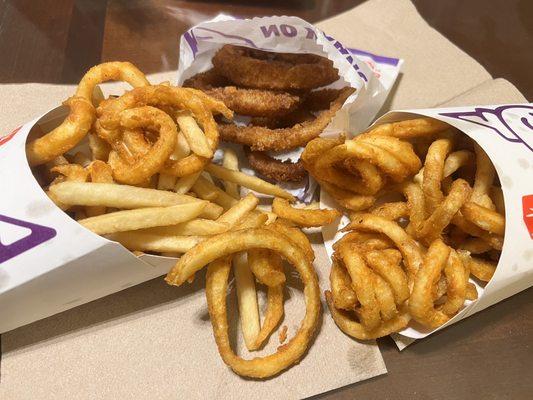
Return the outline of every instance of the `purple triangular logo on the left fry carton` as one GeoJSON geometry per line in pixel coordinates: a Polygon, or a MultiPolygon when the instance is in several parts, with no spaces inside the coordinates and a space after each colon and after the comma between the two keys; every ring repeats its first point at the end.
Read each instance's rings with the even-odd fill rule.
{"type": "Polygon", "coordinates": [[[30,230],[28,235],[6,245],[2,244],[2,231],[6,228],[5,226],[2,227],[2,230],[0,230],[0,264],[52,239],[57,234],[55,229],[37,225],[31,222],[21,221],[19,219],[7,217],[2,214],[0,214],[0,223],[14,225],[15,227],[26,228],[30,230]]]}

